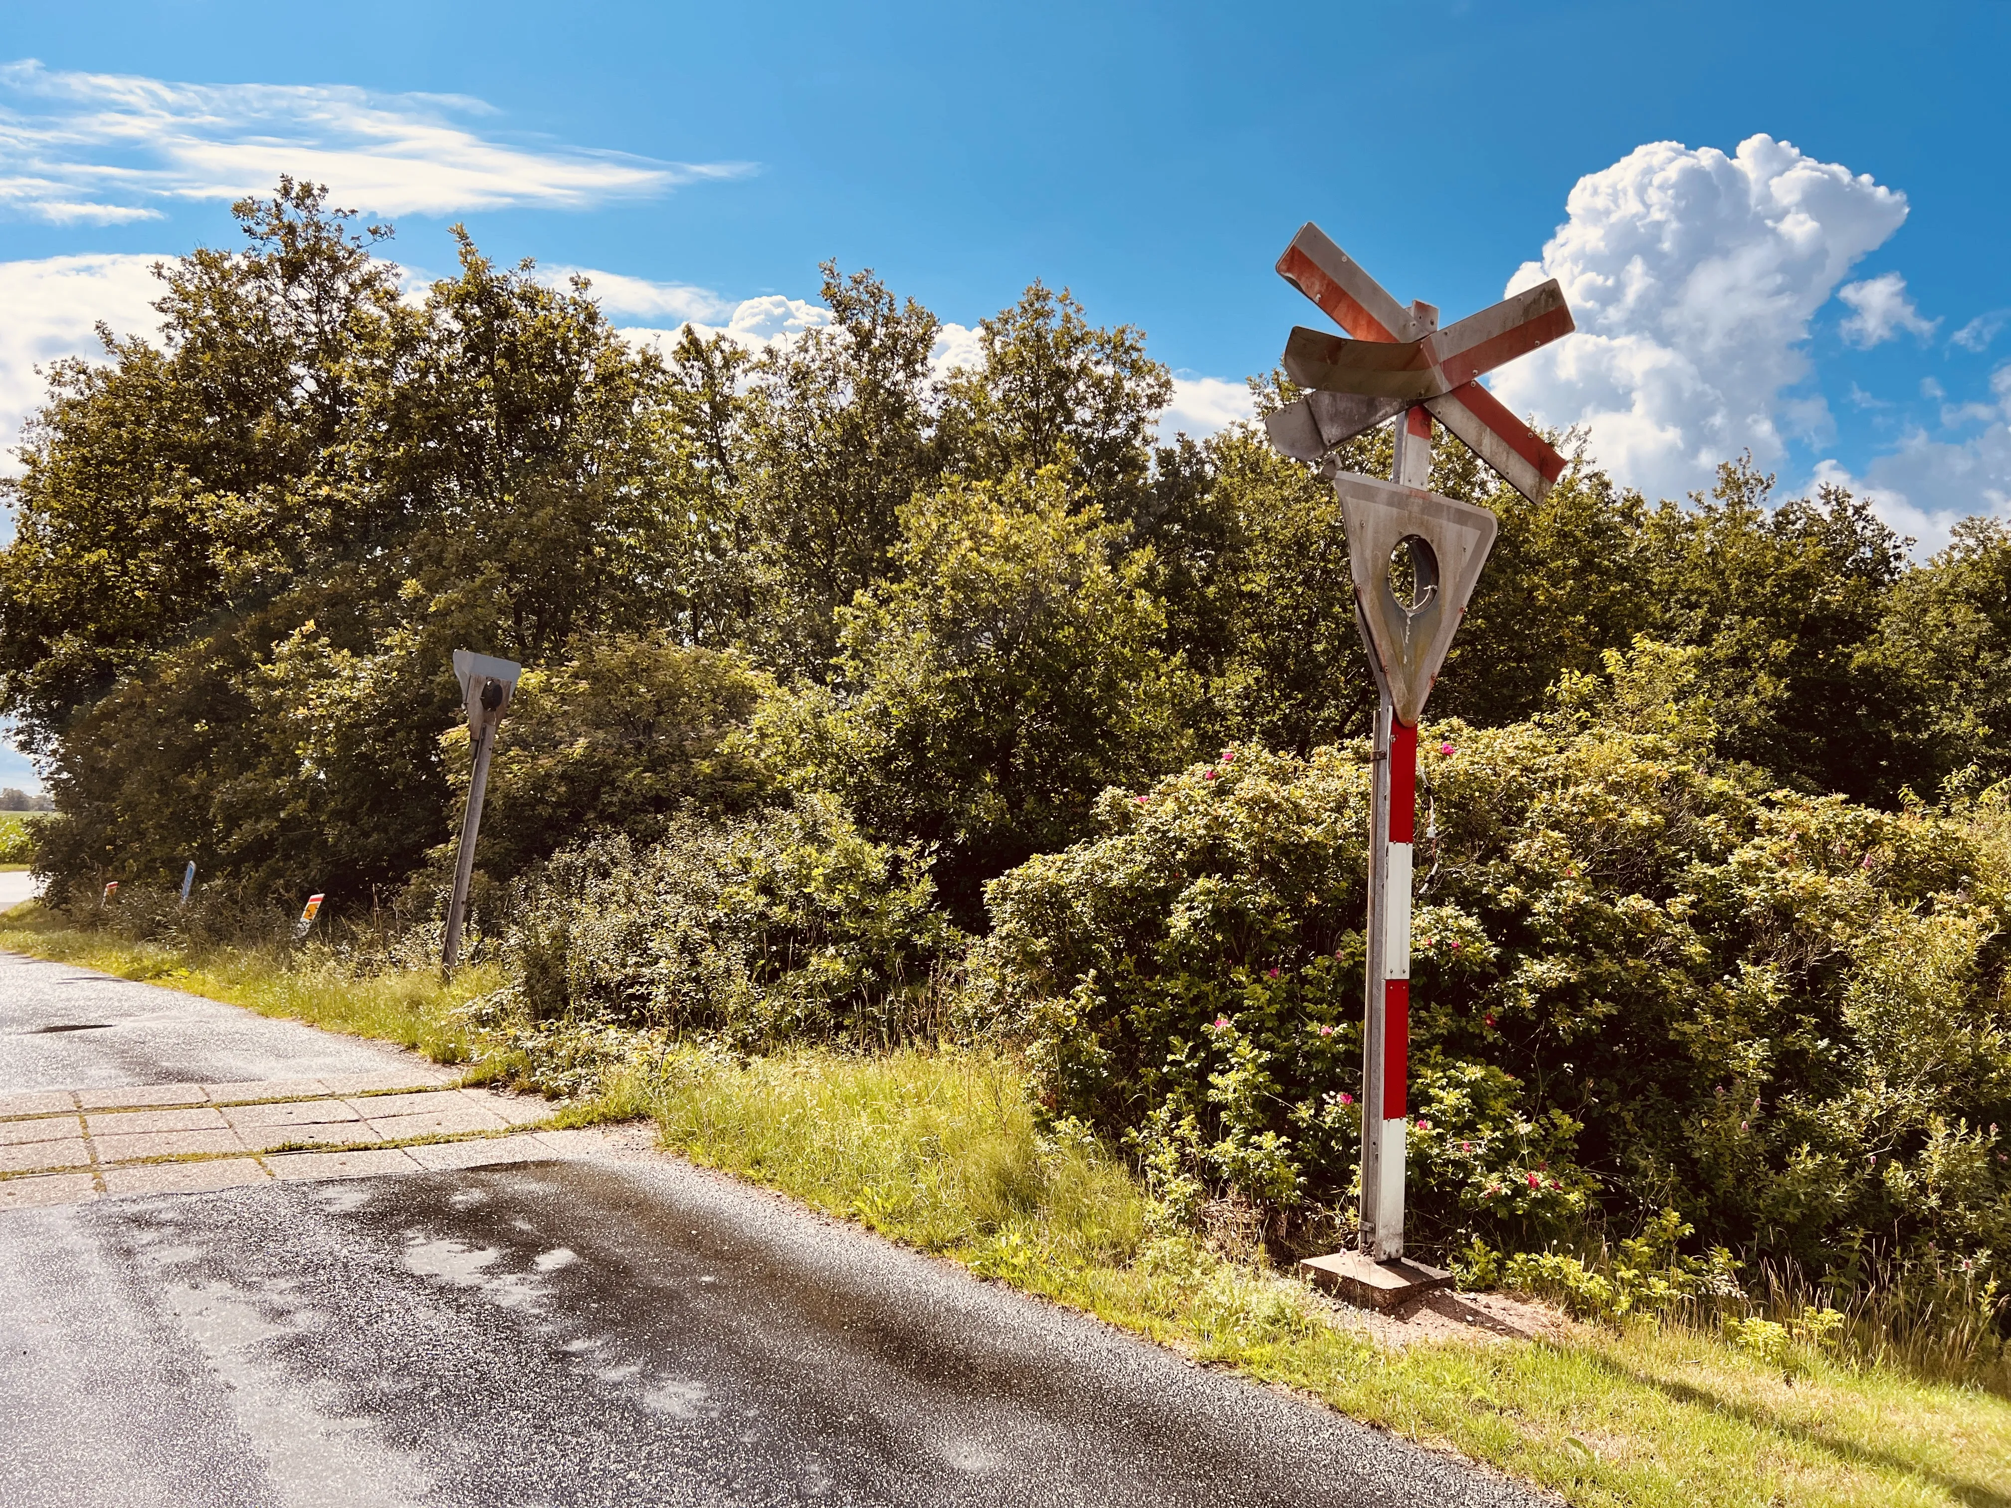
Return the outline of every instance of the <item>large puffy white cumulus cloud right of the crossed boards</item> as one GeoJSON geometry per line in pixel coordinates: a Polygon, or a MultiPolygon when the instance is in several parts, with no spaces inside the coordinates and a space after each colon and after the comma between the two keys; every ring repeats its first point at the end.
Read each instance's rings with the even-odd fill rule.
{"type": "Polygon", "coordinates": [[[1621,481],[1675,497],[1748,446],[1778,460],[1808,322],[1906,199],[1758,135],[1731,157],[1637,147],[1579,179],[1567,215],[1508,290],[1557,277],[1579,334],[1502,368],[1494,392],[1542,424],[1587,426],[1621,481]]]}

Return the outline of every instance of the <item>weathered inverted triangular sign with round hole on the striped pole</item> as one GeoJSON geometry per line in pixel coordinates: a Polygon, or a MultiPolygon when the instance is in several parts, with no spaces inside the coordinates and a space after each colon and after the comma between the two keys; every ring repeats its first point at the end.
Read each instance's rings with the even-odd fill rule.
{"type": "Polygon", "coordinates": [[[1486,509],[1456,503],[1422,487],[1386,483],[1351,470],[1329,473],[1347,525],[1347,557],[1355,577],[1355,621],[1369,666],[1398,722],[1416,726],[1446,664],[1452,635],[1466,615],[1480,567],[1500,523],[1486,509]],[[1410,543],[1416,567],[1412,599],[1390,585],[1390,561],[1410,543]],[[1422,549],[1418,549],[1422,545],[1422,549]]]}

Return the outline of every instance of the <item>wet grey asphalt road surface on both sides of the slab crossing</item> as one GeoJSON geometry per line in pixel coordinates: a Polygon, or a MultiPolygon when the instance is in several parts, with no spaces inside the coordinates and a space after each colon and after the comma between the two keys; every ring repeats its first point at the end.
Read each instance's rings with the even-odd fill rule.
{"type": "MultiPolygon", "coordinates": [[[[0,963],[44,1019],[62,987],[0,963]]],[[[76,989],[121,1064],[350,1046],[76,989]]],[[[6,1210],[0,1293],[10,1506],[1530,1502],[674,1160],[6,1210]]]]}

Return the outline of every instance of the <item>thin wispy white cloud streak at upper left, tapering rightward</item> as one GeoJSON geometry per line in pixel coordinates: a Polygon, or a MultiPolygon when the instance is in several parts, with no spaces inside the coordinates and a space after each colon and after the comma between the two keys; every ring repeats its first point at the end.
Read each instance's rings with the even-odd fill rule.
{"type": "Polygon", "coordinates": [[[380,215],[585,209],[748,163],[666,163],[507,141],[459,95],[346,84],[181,84],[135,74],[0,64],[0,209],[54,223],[157,217],[163,201],[269,193],[282,173],[328,183],[380,215]]]}

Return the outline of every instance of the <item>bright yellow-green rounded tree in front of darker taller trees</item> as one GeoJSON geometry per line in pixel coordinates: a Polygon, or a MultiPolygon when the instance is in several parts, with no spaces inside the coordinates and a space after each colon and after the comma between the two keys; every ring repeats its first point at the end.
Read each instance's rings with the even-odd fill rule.
{"type": "Polygon", "coordinates": [[[901,511],[901,575],[839,613],[843,700],[784,698],[758,734],[873,832],[941,851],[977,887],[1086,830],[1096,794],[1172,768],[1193,684],[1158,639],[1150,559],[1054,470],[953,483],[901,511]]]}

